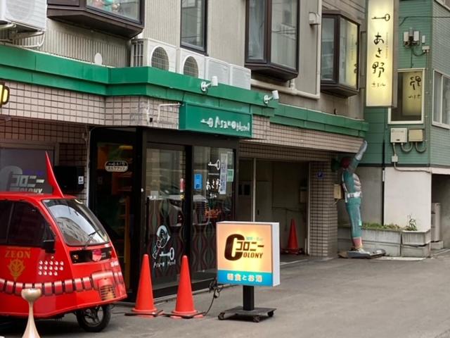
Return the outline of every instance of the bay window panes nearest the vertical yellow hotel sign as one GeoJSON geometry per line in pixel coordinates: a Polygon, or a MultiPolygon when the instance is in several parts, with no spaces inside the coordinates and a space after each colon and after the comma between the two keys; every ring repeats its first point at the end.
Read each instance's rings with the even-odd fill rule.
{"type": "Polygon", "coordinates": [[[322,16],[321,90],[358,94],[359,25],[339,12],[322,16]]]}

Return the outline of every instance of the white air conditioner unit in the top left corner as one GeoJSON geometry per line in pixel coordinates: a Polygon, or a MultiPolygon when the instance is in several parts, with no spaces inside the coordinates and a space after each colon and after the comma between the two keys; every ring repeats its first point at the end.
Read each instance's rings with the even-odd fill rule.
{"type": "Polygon", "coordinates": [[[0,0],[0,25],[15,23],[19,31],[45,30],[47,0],[0,0]]]}

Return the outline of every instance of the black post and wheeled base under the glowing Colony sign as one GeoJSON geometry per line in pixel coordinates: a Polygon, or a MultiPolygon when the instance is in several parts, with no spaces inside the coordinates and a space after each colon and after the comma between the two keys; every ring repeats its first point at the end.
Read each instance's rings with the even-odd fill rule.
{"type": "Polygon", "coordinates": [[[243,285],[243,306],[223,311],[217,318],[219,320],[252,318],[255,323],[259,323],[261,318],[272,317],[275,310],[276,308],[255,308],[255,287],[243,285]]]}

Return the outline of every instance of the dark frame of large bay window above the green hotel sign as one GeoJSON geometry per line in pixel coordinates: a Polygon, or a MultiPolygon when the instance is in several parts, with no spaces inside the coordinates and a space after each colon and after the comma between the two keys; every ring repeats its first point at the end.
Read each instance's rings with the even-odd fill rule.
{"type": "Polygon", "coordinates": [[[252,73],[260,73],[262,75],[267,75],[273,77],[276,80],[288,81],[293,80],[299,75],[300,67],[300,0],[297,1],[297,40],[295,49],[297,55],[295,56],[295,68],[289,68],[278,63],[271,62],[271,30],[272,30],[272,1],[265,1],[265,16],[264,22],[266,23],[264,29],[264,48],[263,48],[263,58],[258,61],[255,59],[248,58],[248,44],[250,42],[250,0],[245,1],[245,67],[250,68],[252,73]]]}

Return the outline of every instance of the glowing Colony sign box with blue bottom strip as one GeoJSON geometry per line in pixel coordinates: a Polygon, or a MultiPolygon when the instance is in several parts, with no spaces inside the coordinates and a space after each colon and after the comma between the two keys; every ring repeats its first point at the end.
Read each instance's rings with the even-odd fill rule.
{"type": "Polygon", "coordinates": [[[279,223],[217,223],[217,281],[274,287],[280,284],[279,223]]]}

